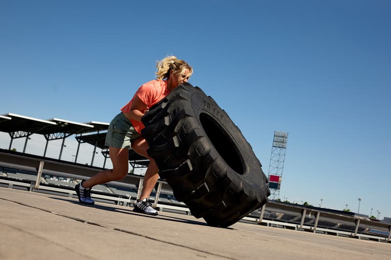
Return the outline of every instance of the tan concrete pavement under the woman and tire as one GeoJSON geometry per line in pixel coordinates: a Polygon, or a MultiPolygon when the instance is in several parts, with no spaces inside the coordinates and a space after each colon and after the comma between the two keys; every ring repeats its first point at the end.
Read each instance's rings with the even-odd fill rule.
{"type": "Polygon", "coordinates": [[[391,259],[391,243],[193,216],[0,187],[1,260],[391,259]]]}

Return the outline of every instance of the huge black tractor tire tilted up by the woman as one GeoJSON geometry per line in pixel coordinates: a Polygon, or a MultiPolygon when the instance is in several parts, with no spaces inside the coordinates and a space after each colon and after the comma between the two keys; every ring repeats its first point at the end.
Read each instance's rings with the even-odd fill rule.
{"type": "Polygon", "coordinates": [[[199,87],[179,85],[142,122],[160,177],[196,218],[227,227],[267,202],[267,179],[250,144],[199,87]]]}

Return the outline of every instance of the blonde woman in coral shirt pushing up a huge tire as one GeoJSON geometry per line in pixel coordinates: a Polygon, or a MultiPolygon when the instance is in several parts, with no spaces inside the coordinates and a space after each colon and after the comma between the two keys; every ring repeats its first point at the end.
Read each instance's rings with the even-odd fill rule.
{"type": "Polygon", "coordinates": [[[193,73],[193,68],[184,60],[175,56],[167,57],[156,64],[156,80],[143,84],[109,125],[105,145],[109,146],[109,155],[113,168],[83,180],[75,186],[75,191],[81,203],[94,204],[91,200],[91,187],[112,180],[121,180],[128,174],[128,157],[130,147],[138,154],[148,158],[150,164],[144,177],[140,201],[133,211],[148,215],[157,215],[148,198],[156,184],[158,167],[147,154],[148,143],[141,136],[144,128],[141,118],[150,107],[166,97],[178,85],[187,82],[193,73]]]}

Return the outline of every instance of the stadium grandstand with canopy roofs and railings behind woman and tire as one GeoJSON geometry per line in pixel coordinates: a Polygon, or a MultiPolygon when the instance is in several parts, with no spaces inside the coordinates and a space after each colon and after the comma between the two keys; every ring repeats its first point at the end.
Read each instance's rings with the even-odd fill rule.
{"type": "MultiPolygon", "coordinates": [[[[90,143],[94,149],[101,148],[103,150],[105,148],[102,138],[105,133],[101,131],[105,131],[106,123],[82,124],[58,119],[45,121],[15,114],[7,114],[5,117],[10,119],[0,121],[0,129],[10,134],[11,143],[15,138],[24,137],[26,138],[26,146],[28,136],[33,133],[54,137],[58,131],[63,131],[57,135],[63,140],[76,135],[79,142],[90,143]],[[12,124],[12,120],[18,123],[12,124]],[[58,124],[65,125],[59,127],[58,124]],[[91,134],[94,132],[95,134],[91,134]]],[[[9,147],[11,147],[11,143],[9,147]]],[[[107,151],[105,154],[108,156],[107,151]]],[[[130,150],[130,165],[133,170],[136,167],[146,167],[148,163],[145,158],[139,157],[130,150]]],[[[95,175],[102,169],[92,165],[61,160],[61,154],[59,159],[50,159],[45,156],[0,149],[0,185],[11,188],[18,187],[34,192],[51,192],[75,197],[73,190],[75,184],[95,175]]],[[[94,199],[131,206],[138,198],[142,182],[142,176],[129,174],[124,180],[96,185],[93,187],[94,199]]],[[[160,210],[190,213],[183,202],[174,198],[173,191],[164,180],[158,181],[150,199],[153,201],[153,206],[160,210]]],[[[277,201],[269,201],[262,209],[252,212],[243,221],[379,241],[390,241],[391,234],[390,223],[374,222],[355,216],[354,213],[277,201]]]]}

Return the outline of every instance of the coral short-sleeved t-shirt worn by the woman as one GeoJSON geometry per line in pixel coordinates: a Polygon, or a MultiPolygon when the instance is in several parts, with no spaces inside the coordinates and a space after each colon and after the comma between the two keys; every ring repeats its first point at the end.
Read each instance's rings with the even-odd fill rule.
{"type": "MultiPolygon", "coordinates": [[[[147,83],[141,85],[133,98],[121,108],[121,111],[124,113],[129,113],[130,107],[133,103],[134,97],[137,96],[141,101],[143,101],[148,108],[152,107],[154,104],[166,97],[170,91],[167,89],[166,80],[151,80],[147,83]]],[[[143,112],[143,111],[142,111],[143,112]]],[[[131,124],[134,129],[141,134],[141,130],[144,129],[144,124],[140,121],[131,119],[131,124]]]]}

